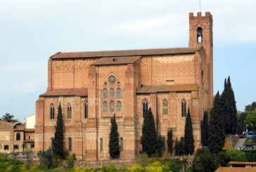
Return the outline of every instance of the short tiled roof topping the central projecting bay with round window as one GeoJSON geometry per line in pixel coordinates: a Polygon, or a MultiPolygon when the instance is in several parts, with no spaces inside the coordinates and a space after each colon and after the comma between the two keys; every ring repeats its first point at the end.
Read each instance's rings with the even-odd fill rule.
{"type": "Polygon", "coordinates": [[[132,64],[141,58],[141,56],[125,56],[125,57],[111,57],[111,58],[100,58],[91,65],[124,65],[132,64]]]}

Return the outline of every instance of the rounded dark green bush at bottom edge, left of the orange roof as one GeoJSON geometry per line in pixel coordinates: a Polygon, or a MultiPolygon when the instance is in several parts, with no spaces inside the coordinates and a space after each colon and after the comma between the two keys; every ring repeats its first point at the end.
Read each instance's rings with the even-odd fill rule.
{"type": "Polygon", "coordinates": [[[192,169],[194,172],[210,172],[217,168],[215,157],[209,150],[198,150],[193,159],[192,169]]]}

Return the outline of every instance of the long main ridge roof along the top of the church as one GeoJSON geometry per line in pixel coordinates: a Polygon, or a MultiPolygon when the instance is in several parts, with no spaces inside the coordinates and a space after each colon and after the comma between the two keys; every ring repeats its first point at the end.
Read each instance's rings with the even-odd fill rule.
{"type": "Polygon", "coordinates": [[[103,58],[103,57],[120,57],[120,56],[138,56],[138,55],[163,55],[163,54],[181,54],[195,53],[203,46],[192,48],[155,48],[142,50],[122,50],[122,51],[87,51],[87,52],[58,52],[51,55],[52,59],[63,58],[103,58]]]}

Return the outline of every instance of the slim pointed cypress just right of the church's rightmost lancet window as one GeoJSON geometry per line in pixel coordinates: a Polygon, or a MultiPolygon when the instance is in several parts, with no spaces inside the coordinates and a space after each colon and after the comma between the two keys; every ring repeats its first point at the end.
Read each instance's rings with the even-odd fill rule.
{"type": "Polygon", "coordinates": [[[191,114],[188,107],[188,114],[186,115],[186,125],[185,125],[185,136],[184,145],[186,148],[186,154],[193,154],[194,152],[194,138],[193,138],[193,127],[191,121],[191,114]]]}

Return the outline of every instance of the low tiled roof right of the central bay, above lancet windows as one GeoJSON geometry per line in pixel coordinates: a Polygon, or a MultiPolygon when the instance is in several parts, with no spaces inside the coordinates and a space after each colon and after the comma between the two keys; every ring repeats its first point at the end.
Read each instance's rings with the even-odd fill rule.
{"type": "Polygon", "coordinates": [[[170,92],[170,91],[197,91],[196,84],[176,84],[176,85],[144,85],[137,89],[136,93],[156,93],[156,92],[170,92]]]}

